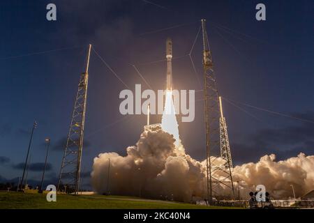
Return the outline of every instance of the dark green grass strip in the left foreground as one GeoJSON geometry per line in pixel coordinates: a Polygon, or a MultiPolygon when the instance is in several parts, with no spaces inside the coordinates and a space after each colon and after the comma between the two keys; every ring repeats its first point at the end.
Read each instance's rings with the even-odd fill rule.
{"type": "Polygon", "coordinates": [[[48,202],[46,194],[23,192],[0,192],[0,209],[211,209],[226,207],[196,206],[190,203],[176,203],[153,200],[142,200],[130,197],[103,195],[57,194],[57,202],[48,202]]]}

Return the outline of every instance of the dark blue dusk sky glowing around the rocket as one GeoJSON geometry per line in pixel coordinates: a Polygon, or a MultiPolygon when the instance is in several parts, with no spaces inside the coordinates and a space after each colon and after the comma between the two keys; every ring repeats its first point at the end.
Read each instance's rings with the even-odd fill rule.
{"type": "MultiPolygon", "coordinates": [[[[1,1],[0,7],[0,180],[22,175],[33,121],[30,178],[39,180],[45,158],[45,137],[52,140],[47,178],[57,177],[87,45],[94,45],[121,79],[134,89],[147,87],[133,63],[154,90],[165,85],[165,39],[173,40],[174,86],[201,89],[188,56],[207,19],[220,94],[244,102],[314,120],[313,1],[1,1]],[[264,3],[267,21],[255,20],[255,6],[264,3]],[[46,20],[47,3],[57,5],[57,21],[46,20]],[[147,33],[185,24],[175,29],[147,33]],[[144,34],[143,34],[144,33],[144,34]],[[66,48],[66,49],[65,49],[66,48]],[[62,49],[46,52],[50,49],[62,49]],[[45,52],[33,54],[37,52],[45,52]],[[37,170],[37,171],[36,171],[37,170]]],[[[201,38],[193,61],[202,80],[201,38]]],[[[83,153],[83,171],[91,170],[98,153],[125,148],[139,139],[144,115],[119,114],[119,92],[125,86],[93,52],[83,153]],[[121,119],[122,118],[122,119],[121,119]]],[[[196,93],[202,98],[202,93],[196,93]]],[[[314,124],[224,102],[232,155],[237,164],[276,153],[284,159],[314,153],[314,124]]],[[[179,123],[187,153],[204,159],[203,105],[195,105],[193,123],[179,123]]],[[[152,117],[160,122],[160,116],[152,117]]],[[[181,118],[179,118],[181,120],[181,118]]],[[[88,183],[88,180],[87,180],[88,183]]]]}

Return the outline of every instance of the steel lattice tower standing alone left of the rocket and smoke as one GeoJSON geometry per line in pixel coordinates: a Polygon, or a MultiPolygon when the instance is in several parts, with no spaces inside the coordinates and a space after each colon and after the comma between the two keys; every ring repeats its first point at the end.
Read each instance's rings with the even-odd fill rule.
{"type": "Polygon", "coordinates": [[[75,194],[79,192],[90,54],[91,45],[89,45],[87,54],[86,70],[80,75],[80,82],[78,84],[77,95],[75,98],[70,130],[68,131],[68,138],[66,140],[66,148],[63,154],[57,191],[59,191],[62,186],[67,192],[74,192],[75,194]]]}

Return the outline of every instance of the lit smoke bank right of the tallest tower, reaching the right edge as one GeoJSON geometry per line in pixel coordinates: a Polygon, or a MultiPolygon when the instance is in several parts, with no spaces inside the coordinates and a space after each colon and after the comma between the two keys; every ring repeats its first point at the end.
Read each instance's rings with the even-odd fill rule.
{"type": "Polygon", "coordinates": [[[265,185],[274,198],[296,197],[314,189],[314,155],[300,153],[297,157],[275,161],[276,155],[264,155],[257,163],[234,167],[234,180],[238,180],[244,194],[254,190],[256,185],[265,185]]]}

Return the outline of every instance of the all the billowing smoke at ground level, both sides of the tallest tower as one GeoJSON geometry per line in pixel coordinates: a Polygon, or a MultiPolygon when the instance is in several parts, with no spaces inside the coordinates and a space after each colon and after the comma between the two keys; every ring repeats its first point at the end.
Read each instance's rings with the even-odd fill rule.
{"type": "MultiPolygon", "coordinates": [[[[174,199],[190,201],[192,197],[206,196],[205,162],[194,160],[184,150],[174,146],[174,138],[160,127],[142,132],[136,146],[126,148],[127,155],[101,153],[94,158],[91,183],[99,194],[174,199]],[[108,171],[110,159],[110,169],[108,171]],[[109,177],[108,177],[109,172],[109,177]]],[[[236,194],[248,197],[256,185],[265,185],[276,199],[292,197],[294,185],[299,197],[314,187],[314,155],[300,153],[284,161],[275,161],[275,155],[265,155],[257,163],[234,167],[232,174],[236,194]],[[239,185],[238,183],[239,182],[239,185]]],[[[221,176],[223,177],[223,176],[221,176]]],[[[221,194],[230,190],[218,188],[221,194]]]]}

